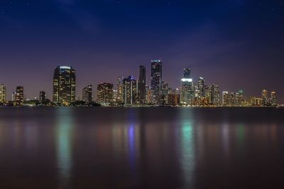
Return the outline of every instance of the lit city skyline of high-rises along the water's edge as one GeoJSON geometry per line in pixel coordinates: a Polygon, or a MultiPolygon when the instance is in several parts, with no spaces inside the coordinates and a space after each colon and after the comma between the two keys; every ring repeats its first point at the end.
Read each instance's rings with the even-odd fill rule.
{"type": "MultiPolygon", "coordinates": [[[[70,66],[58,66],[53,73],[53,105],[71,105],[75,101],[84,101],[91,105],[182,105],[182,106],[277,106],[276,91],[263,89],[261,96],[245,96],[243,90],[221,91],[219,84],[207,84],[200,76],[197,81],[192,79],[192,68],[183,69],[181,85],[177,88],[170,86],[162,77],[163,62],[161,59],[151,60],[151,84],[146,85],[146,67],[139,66],[139,77],[118,76],[116,83],[101,82],[97,84],[97,95],[94,95],[92,84],[82,88],[81,98],[76,93],[76,71],[70,66]],[[116,86],[116,88],[114,87],[116,86]],[[93,98],[97,96],[97,98],[93,98]]],[[[6,85],[0,85],[0,103],[10,101],[6,98],[6,85]]],[[[23,105],[26,101],[37,100],[48,105],[50,99],[45,91],[40,91],[39,98],[27,98],[23,86],[16,86],[11,95],[14,105],[23,105]],[[47,101],[48,100],[48,101],[47,101]]],[[[79,104],[78,104],[79,105],[79,104]]]]}

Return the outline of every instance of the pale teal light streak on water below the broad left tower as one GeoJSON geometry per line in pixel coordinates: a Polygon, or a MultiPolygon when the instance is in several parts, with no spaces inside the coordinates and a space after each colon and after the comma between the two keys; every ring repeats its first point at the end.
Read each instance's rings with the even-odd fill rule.
{"type": "Polygon", "coordinates": [[[69,178],[72,168],[72,136],[73,120],[72,108],[57,109],[58,122],[56,125],[57,137],[57,159],[58,159],[58,176],[60,186],[67,187],[70,185],[69,178]]]}

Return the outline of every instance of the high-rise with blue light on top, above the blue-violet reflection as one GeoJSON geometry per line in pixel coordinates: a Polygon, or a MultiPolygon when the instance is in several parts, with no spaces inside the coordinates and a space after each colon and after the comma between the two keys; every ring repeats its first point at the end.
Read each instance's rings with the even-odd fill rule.
{"type": "Polygon", "coordinates": [[[124,105],[135,105],[137,103],[138,82],[133,76],[124,79],[123,99],[124,105]]]}

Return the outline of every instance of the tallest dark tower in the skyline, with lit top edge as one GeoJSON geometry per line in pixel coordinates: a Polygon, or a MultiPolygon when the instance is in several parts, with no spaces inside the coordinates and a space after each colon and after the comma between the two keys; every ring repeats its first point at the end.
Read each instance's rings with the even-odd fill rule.
{"type": "Polygon", "coordinates": [[[153,95],[153,104],[160,104],[162,82],[162,62],[160,59],[151,62],[151,90],[153,95]]]}

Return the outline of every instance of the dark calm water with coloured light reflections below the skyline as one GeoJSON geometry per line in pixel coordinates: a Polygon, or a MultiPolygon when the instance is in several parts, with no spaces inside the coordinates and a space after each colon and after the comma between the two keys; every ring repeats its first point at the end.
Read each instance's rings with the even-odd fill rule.
{"type": "Polygon", "coordinates": [[[284,109],[0,108],[0,188],[284,188],[284,109]]]}

